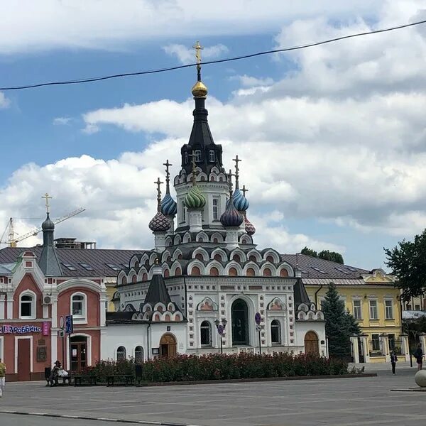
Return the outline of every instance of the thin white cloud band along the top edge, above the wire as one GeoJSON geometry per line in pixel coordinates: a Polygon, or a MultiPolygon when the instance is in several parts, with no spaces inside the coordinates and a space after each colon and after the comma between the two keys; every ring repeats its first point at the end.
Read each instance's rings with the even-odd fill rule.
{"type": "Polygon", "coordinates": [[[296,17],[373,13],[381,0],[22,0],[0,2],[0,53],[271,33],[296,17]],[[201,9],[200,9],[201,8],[201,9]],[[200,13],[200,11],[202,13],[200,13]],[[72,23],[72,25],[70,24],[72,23]]]}

